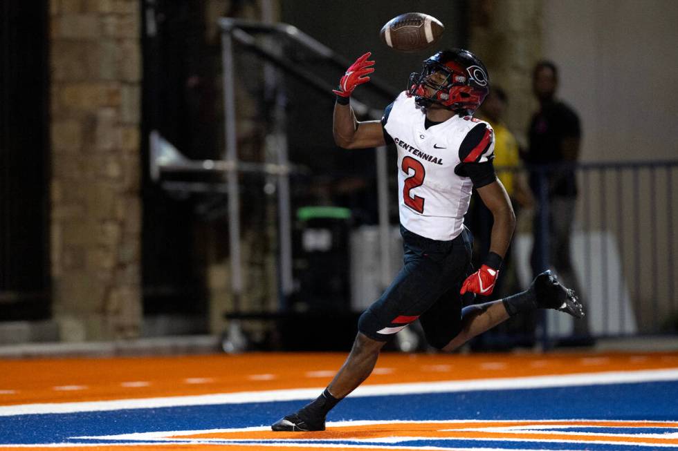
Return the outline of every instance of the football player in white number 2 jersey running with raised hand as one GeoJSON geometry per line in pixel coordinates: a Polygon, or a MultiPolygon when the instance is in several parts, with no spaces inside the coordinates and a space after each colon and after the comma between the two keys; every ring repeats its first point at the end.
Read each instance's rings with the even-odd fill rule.
{"type": "Polygon", "coordinates": [[[275,431],[324,430],[327,412],[365,381],[383,345],[416,319],[430,345],[452,351],[524,311],[584,315],[574,291],[548,271],[522,293],[462,308],[462,294],[492,293],[515,224],[493,169],[493,130],[473,117],[489,92],[487,70],[468,50],[437,52],[410,76],[408,89],[385,108],[381,121],[358,122],[349,98],[374,71],[369,56],[358,58],[334,90],[334,139],[344,148],[396,145],[405,265],[360,316],[353,348],[333,381],[318,399],[274,423],[275,431]],[[472,238],[464,214],[474,188],[494,224],[484,265],[470,274],[472,238]]]}

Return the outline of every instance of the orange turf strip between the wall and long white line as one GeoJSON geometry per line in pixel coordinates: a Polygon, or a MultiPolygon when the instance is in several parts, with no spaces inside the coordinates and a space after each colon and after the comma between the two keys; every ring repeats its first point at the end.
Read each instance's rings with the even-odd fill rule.
{"type": "MultiPolygon", "coordinates": [[[[346,354],[257,353],[0,362],[0,405],[324,387],[346,354]]],[[[678,367],[678,352],[385,353],[366,384],[459,381],[678,367]]],[[[120,449],[120,448],[116,448],[120,449]]]]}

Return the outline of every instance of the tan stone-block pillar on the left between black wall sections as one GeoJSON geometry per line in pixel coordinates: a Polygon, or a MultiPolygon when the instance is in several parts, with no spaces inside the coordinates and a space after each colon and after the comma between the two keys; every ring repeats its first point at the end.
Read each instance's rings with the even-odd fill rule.
{"type": "Polygon", "coordinates": [[[138,336],[140,3],[50,3],[55,320],[62,340],[138,336]]]}

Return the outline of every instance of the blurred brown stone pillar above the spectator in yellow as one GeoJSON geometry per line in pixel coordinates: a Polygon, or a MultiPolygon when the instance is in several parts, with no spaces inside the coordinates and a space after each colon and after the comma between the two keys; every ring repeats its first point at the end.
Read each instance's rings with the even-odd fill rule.
{"type": "Polygon", "coordinates": [[[470,3],[469,48],[481,56],[493,86],[508,95],[505,121],[521,144],[537,108],[532,68],[542,57],[542,0],[480,0],[470,3]]]}

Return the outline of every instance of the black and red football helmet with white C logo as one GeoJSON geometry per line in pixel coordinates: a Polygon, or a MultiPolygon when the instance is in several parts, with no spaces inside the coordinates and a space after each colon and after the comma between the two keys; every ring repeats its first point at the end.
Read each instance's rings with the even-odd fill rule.
{"type": "Polygon", "coordinates": [[[462,114],[473,114],[490,92],[487,69],[468,50],[441,50],[423,61],[421,73],[412,73],[408,95],[425,108],[433,103],[462,114]],[[433,90],[428,95],[426,88],[433,90]]]}

